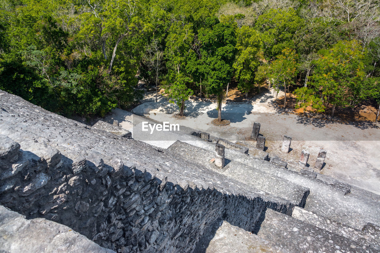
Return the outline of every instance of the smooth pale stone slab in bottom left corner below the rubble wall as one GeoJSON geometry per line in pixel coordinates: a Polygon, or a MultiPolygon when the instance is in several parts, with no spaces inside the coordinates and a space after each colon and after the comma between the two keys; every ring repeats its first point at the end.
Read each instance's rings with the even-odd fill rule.
{"type": "Polygon", "coordinates": [[[24,215],[0,206],[0,245],[2,252],[114,253],[100,247],[68,226],[24,215]]]}

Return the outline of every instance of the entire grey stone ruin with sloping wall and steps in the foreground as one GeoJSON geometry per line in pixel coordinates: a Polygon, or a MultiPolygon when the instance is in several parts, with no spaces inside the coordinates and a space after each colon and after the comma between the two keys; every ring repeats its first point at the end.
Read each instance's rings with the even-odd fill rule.
{"type": "Polygon", "coordinates": [[[0,104],[4,252],[380,250],[372,192],[195,130],[163,149],[3,91],[0,104]]]}

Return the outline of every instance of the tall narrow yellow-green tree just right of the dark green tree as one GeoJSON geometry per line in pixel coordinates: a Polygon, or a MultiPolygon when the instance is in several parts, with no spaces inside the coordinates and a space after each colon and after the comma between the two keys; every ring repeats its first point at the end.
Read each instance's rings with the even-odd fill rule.
{"type": "Polygon", "coordinates": [[[248,26],[236,30],[236,61],[233,64],[235,77],[239,80],[238,88],[245,92],[245,98],[252,88],[255,70],[259,66],[257,53],[261,41],[257,31],[248,26]]]}

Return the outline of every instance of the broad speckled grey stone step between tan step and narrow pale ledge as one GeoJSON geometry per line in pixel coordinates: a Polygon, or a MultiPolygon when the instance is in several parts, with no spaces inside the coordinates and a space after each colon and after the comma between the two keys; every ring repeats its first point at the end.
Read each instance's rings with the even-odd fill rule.
{"type": "Polygon", "coordinates": [[[253,232],[293,253],[377,252],[374,248],[271,209],[262,213],[253,232]]]}

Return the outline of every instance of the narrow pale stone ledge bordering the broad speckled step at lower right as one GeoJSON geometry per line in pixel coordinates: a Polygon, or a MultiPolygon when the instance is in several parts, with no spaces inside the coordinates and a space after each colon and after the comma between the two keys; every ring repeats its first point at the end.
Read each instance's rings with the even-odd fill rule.
{"type": "Polygon", "coordinates": [[[374,234],[365,233],[364,231],[351,228],[350,226],[319,216],[298,206],[294,207],[291,217],[317,226],[318,228],[325,229],[326,231],[339,236],[354,240],[360,244],[372,246],[373,248],[380,250],[380,238],[374,234]]]}

